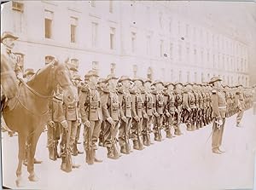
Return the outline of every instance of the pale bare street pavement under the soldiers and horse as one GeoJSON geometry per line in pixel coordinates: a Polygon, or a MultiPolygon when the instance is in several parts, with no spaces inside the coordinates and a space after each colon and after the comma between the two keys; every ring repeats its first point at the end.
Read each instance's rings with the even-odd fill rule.
{"type": "MultiPolygon", "coordinates": [[[[224,129],[224,154],[211,151],[212,124],[201,130],[186,131],[183,135],[161,142],[154,141],[143,151],[133,150],[118,160],[107,158],[106,148],[96,152],[101,164],[85,164],[85,155],[79,155],[79,169],[63,172],[61,159],[49,160],[46,148],[47,132],[38,141],[35,164],[39,181],[28,181],[26,167],[22,174],[25,183],[20,189],[88,189],[88,190],[190,190],[190,189],[249,189],[253,188],[256,153],[256,116],[252,109],[244,114],[243,127],[236,127],[236,116],[227,118],[224,129]]],[[[165,136],[163,132],[163,136],[165,136]]],[[[153,137],[153,136],[152,136],[153,137]]],[[[83,141],[83,135],[80,135],[83,141]]],[[[79,145],[83,150],[83,143],[79,145]]],[[[15,187],[18,164],[17,135],[2,134],[3,185],[15,187]]]]}

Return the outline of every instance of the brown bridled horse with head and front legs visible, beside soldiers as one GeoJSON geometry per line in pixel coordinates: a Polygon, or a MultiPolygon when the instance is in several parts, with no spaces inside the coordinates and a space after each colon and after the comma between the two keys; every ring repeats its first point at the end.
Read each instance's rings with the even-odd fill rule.
{"type": "MultiPolygon", "coordinates": [[[[16,186],[21,186],[21,166],[27,157],[29,181],[38,181],[34,172],[34,155],[39,136],[48,119],[48,105],[56,85],[63,89],[66,99],[73,100],[73,83],[67,66],[52,61],[27,82],[20,83],[15,98],[3,109],[3,118],[10,130],[18,132],[19,164],[16,186]]],[[[69,100],[69,101],[70,101],[69,100]]],[[[65,101],[65,100],[64,100],[65,101]]]]}

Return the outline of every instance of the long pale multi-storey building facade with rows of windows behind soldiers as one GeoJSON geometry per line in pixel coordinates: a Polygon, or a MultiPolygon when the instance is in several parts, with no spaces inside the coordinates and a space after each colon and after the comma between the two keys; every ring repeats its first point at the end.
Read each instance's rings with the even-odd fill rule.
{"type": "MultiPolygon", "coordinates": [[[[248,44],[168,1],[13,1],[5,3],[2,32],[20,38],[24,68],[53,55],[70,58],[79,74],[93,68],[163,81],[249,84],[248,44]]],[[[217,23],[218,25],[218,23],[217,23]]]]}

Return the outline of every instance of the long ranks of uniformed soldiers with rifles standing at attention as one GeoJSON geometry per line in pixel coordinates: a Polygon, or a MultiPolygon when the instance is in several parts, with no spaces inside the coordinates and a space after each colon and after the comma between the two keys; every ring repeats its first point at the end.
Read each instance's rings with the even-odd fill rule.
{"type": "MultiPolygon", "coordinates": [[[[77,72],[72,64],[69,69],[77,72]]],[[[152,132],[154,141],[161,141],[162,130],[166,138],[172,138],[183,135],[181,124],[192,131],[212,123],[211,83],[163,83],[160,80],[153,83],[150,79],[116,78],[112,74],[102,79],[95,71],[86,73],[84,81],[79,75],[72,77],[77,100],[64,102],[58,88],[50,103],[49,158],[61,157],[61,170],[79,167],[75,159],[83,153],[77,147],[81,126],[84,126],[86,163],[94,164],[102,162],[96,158],[97,144],[107,147],[108,158],[117,159],[120,153],[131,153],[131,146],[136,150],[150,146],[152,132]]],[[[250,89],[241,85],[225,86],[224,94],[226,117],[238,113],[237,126],[240,126],[243,111],[252,107],[250,89]]]]}

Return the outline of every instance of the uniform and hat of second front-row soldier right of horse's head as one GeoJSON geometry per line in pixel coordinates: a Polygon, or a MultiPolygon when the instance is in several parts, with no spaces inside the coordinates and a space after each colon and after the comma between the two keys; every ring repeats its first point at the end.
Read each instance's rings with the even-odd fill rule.
{"type": "MultiPolygon", "coordinates": [[[[117,80],[113,75],[109,75],[106,79],[117,80]]],[[[109,89],[108,92],[104,92],[102,95],[102,114],[103,120],[106,122],[106,141],[104,147],[108,149],[108,158],[119,158],[119,150],[117,147],[117,134],[119,130],[119,118],[120,118],[120,103],[119,95],[116,89],[109,89]]]]}

